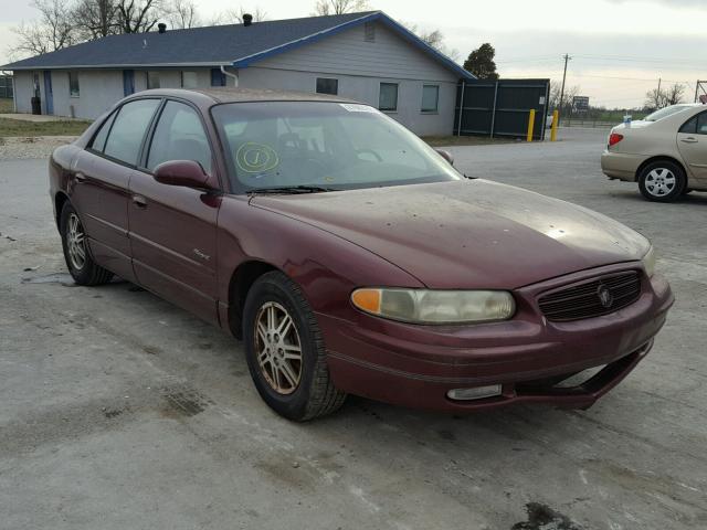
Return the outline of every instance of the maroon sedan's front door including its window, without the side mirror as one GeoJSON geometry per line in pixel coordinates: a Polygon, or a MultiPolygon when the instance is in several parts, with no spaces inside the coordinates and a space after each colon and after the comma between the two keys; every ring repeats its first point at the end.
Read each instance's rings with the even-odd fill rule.
{"type": "Polygon", "coordinates": [[[212,170],[212,151],[199,114],[168,100],[145,171],[130,179],[128,205],[133,266],[138,282],[204,320],[217,314],[217,216],[220,195],[157,182],[151,171],[169,160],[194,160],[212,170]]]}

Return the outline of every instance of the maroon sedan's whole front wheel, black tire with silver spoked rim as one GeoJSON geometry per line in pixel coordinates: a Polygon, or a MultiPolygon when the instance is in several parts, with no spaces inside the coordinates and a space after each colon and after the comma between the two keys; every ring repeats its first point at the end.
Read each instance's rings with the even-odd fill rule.
{"type": "Polygon", "coordinates": [[[299,287],[284,274],[266,273],[250,288],[243,340],[255,388],[279,415],[305,422],[344,404],[346,393],[331,381],[314,312],[299,287]]]}

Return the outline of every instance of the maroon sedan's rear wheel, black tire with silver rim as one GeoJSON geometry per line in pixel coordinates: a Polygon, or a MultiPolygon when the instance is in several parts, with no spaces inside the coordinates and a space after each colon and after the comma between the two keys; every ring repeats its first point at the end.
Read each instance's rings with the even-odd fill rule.
{"type": "Polygon", "coordinates": [[[113,273],[97,265],[86,244],[81,218],[68,202],[64,204],[59,218],[62,247],[68,273],[78,285],[103,285],[110,282],[113,273]]]}

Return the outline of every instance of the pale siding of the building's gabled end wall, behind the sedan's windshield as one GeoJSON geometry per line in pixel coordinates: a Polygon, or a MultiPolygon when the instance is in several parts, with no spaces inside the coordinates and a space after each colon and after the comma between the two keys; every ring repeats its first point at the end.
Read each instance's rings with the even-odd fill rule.
{"type": "Polygon", "coordinates": [[[457,75],[382,24],[374,42],[354,28],[239,71],[239,86],[315,92],[317,77],[339,81],[339,95],[378,106],[380,83],[398,84],[398,110],[388,113],[415,134],[450,135],[457,75]],[[437,113],[422,113],[422,86],[440,86],[437,113]]]}

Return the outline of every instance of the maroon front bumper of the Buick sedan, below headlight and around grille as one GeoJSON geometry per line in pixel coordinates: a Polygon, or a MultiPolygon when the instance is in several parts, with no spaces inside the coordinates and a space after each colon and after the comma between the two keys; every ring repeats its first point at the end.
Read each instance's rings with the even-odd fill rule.
{"type": "MultiPolygon", "coordinates": [[[[625,271],[609,266],[514,292],[514,319],[477,326],[411,326],[367,315],[356,321],[317,315],[335,384],[378,401],[436,411],[468,411],[517,402],[588,407],[625,378],[650,351],[673,294],[661,276],[642,275],[642,294],[613,314],[547,321],[537,309],[546,290],[625,271]],[[572,389],[545,382],[605,365],[572,389]],[[453,401],[450,390],[500,384],[499,396],[453,401]]],[[[630,267],[629,267],[630,268],[630,267]]]]}

